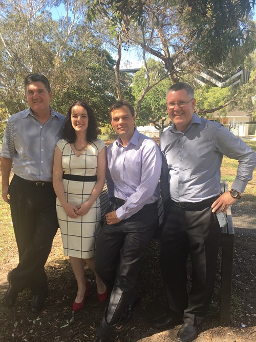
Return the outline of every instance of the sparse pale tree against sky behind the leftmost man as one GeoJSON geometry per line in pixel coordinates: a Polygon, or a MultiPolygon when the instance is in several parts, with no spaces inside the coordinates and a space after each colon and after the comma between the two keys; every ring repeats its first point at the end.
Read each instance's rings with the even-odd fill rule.
{"type": "Polygon", "coordinates": [[[65,84],[60,74],[63,63],[81,48],[82,41],[90,44],[94,39],[85,26],[79,26],[85,8],[77,0],[63,3],[66,13],[58,20],[50,12],[59,4],[55,0],[3,0],[2,3],[0,101],[13,114],[26,107],[23,81],[27,74],[44,73],[53,91],[59,89],[59,83],[65,84]]]}

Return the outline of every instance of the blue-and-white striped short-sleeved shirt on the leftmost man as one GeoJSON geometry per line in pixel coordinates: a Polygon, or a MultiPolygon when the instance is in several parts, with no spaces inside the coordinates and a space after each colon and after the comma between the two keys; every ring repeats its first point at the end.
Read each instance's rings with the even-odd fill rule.
{"type": "Polygon", "coordinates": [[[12,158],[12,171],[34,181],[52,181],[55,145],[61,137],[65,116],[50,107],[50,117],[42,125],[30,108],[9,117],[1,156],[12,158]]]}

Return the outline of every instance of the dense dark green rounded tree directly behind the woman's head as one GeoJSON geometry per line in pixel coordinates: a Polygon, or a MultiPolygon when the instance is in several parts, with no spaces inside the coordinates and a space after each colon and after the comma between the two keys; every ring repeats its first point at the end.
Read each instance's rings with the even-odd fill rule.
{"type": "MultiPolygon", "coordinates": [[[[114,61],[105,50],[90,48],[68,57],[58,74],[52,105],[66,114],[71,103],[83,99],[100,123],[108,122],[108,108],[115,102],[114,61]]],[[[56,82],[56,81],[55,81],[56,82]]]]}

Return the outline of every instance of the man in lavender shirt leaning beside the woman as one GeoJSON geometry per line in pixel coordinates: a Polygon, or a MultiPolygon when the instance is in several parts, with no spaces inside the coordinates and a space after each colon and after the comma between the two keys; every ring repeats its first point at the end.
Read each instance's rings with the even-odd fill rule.
{"type": "Polygon", "coordinates": [[[93,342],[108,340],[118,323],[131,318],[140,300],[134,286],[141,259],[158,226],[160,149],[134,127],[129,103],[114,104],[110,119],[119,137],[107,149],[111,205],[97,237],[95,269],[111,296],[93,342]]]}

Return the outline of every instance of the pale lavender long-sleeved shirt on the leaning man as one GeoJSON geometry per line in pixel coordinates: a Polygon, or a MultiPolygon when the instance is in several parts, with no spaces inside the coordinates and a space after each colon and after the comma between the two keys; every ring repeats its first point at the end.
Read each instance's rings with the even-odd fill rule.
{"type": "Polygon", "coordinates": [[[126,201],[116,210],[120,220],[134,215],[145,204],[158,200],[162,156],[154,140],[135,129],[127,146],[122,145],[119,137],[106,151],[109,197],[126,201]]]}

